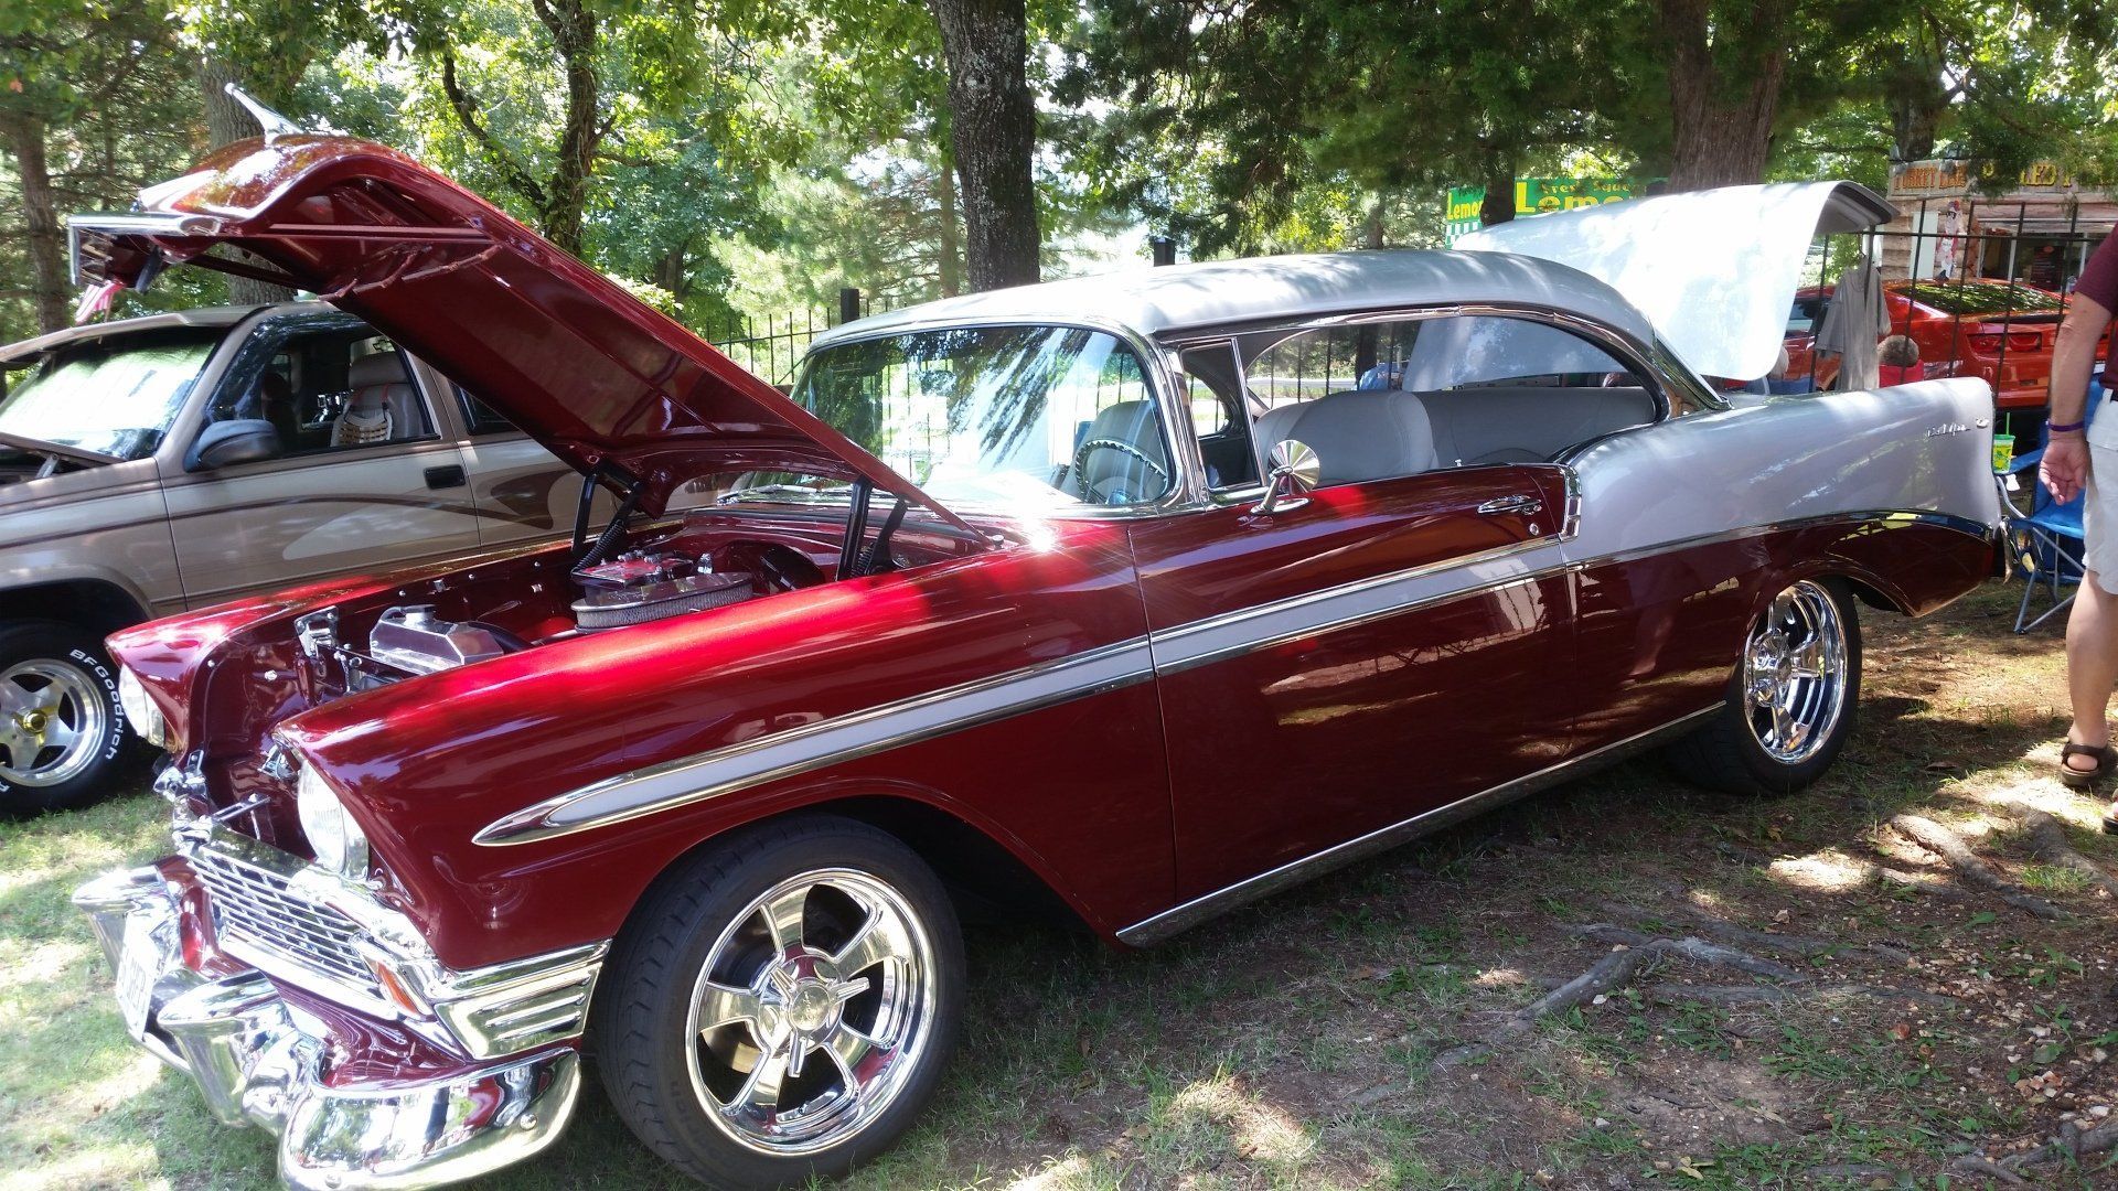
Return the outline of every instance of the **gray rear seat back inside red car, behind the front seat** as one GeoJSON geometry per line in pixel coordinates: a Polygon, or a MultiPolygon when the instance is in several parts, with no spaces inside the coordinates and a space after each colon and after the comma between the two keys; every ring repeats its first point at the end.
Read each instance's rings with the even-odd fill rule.
{"type": "Polygon", "coordinates": [[[1654,422],[1644,388],[1453,388],[1408,394],[1428,413],[1440,466],[1529,464],[1654,422]]]}

